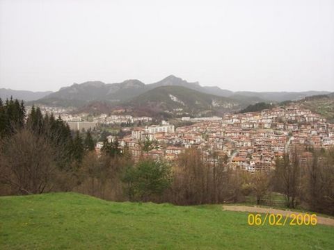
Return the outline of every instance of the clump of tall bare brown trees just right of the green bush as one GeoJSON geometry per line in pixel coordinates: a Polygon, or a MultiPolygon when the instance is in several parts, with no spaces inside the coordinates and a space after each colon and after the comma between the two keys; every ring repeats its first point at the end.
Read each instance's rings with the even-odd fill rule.
{"type": "Polygon", "coordinates": [[[203,156],[198,149],[187,149],[175,163],[174,181],[164,201],[191,205],[238,199],[238,176],[217,153],[203,156]]]}

